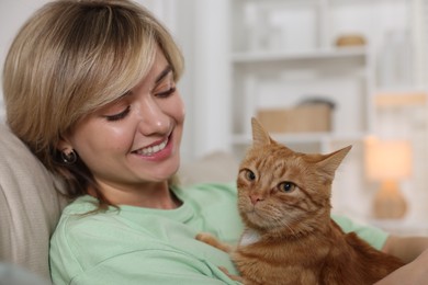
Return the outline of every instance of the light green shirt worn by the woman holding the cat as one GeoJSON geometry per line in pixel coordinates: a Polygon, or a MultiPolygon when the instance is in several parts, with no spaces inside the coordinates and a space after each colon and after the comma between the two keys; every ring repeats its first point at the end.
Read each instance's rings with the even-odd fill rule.
{"type": "MultiPolygon", "coordinates": [[[[50,240],[54,284],[236,284],[218,266],[237,274],[228,254],[194,239],[210,231],[236,243],[243,225],[235,184],[173,187],[183,202],[177,209],[110,207],[88,214],[95,200],[82,196],[68,205],[50,240]]],[[[381,248],[387,235],[335,217],[381,248]]]]}

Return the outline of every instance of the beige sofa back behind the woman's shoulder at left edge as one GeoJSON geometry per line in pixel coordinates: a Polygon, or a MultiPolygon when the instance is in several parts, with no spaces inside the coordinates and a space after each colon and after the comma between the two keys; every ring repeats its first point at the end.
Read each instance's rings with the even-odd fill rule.
{"type": "Polygon", "coordinates": [[[48,242],[65,200],[60,184],[0,124],[0,261],[48,277],[48,242]]]}

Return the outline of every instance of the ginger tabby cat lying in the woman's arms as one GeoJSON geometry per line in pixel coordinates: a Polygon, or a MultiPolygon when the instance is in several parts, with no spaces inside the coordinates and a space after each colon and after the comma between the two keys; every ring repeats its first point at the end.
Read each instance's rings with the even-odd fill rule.
{"type": "Polygon", "coordinates": [[[246,229],[237,248],[210,233],[196,239],[230,252],[244,284],[373,284],[404,265],[330,218],[331,182],[351,146],[329,155],[294,152],[252,118],[254,145],[237,179],[246,229]]]}

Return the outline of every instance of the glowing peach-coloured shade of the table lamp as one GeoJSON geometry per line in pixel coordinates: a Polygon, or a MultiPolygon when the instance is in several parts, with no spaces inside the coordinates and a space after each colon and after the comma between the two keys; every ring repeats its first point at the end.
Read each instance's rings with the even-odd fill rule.
{"type": "Polygon", "coordinates": [[[365,142],[365,174],[375,181],[402,180],[412,173],[412,147],[407,140],[379,140],[365,142]]]}

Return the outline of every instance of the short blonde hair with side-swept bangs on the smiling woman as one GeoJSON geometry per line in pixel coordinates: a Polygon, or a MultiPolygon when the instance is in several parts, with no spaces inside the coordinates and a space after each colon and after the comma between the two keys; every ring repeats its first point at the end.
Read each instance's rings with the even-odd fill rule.
{"type": "Polygon", "coordinates": [[[56,159],[61,135],[144,78],[157,46],[178,80],[182,55],[169,32],[143,7],[128,0],[45,4],[22,26],[5,59],[10,128],[49,170],[76,175],[56,159]]]}

